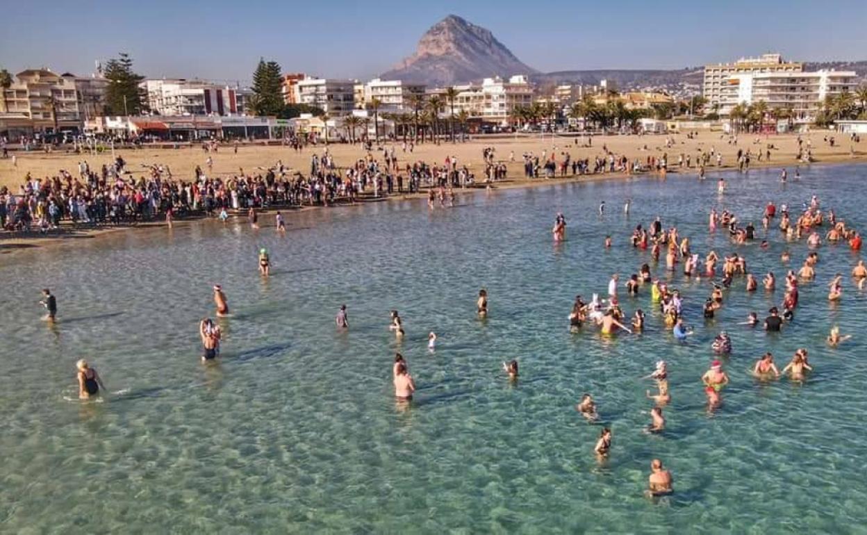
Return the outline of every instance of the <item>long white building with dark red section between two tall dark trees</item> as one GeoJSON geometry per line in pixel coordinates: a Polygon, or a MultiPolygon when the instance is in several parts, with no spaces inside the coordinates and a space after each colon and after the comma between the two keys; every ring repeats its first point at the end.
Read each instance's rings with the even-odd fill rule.
{"type": "Polygon", "coordinates": [[[184,79],[145,80],[139,85],[147,93],[147,108],[153,114],[169,117],[244,114],[245,95],[239,88],[184,79]]]}

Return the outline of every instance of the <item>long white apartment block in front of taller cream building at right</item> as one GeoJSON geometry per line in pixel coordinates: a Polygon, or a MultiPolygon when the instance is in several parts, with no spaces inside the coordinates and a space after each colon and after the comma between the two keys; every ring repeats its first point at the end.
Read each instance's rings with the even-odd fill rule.
{"type": "Polygon", "coordinates": [[[720,114],[738,104],[765,101],[768,109],[789,108],[795,121],[815,119],[825,97],[857,88],[854,71],[762,72],[728,77],[720,89],[720,114]]]}

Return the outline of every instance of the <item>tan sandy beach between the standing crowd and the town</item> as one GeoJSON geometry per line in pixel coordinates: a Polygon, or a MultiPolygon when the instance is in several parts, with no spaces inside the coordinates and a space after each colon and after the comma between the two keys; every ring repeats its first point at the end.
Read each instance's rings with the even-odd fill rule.
{"type": "MultiPolygon", "coordinates": [[[[818,131],[811,134],[802,134],[804,147],[809,143],[812,147],[812,156],[815,163],[839,163],[851,161],[867,160],[867,141],[862,140],[860,143],[854,143],[846,136],[840,134],[818,131]],[[835,146],[831,147],[829,138],[835,138],[835,146]]],[[[407,163],[415,161],[424,161],[428,164],[439,164],[446,160],[447,157],[456,157],[459,166],[468,166],[472,173],[476,174],[477,182],[484,179],[483,173],[485,170],[482,151],[486,147],[493,147],[496,151],[495,159],[504,161],[508,166],[508,177],[505,181],[499,182],[496,187],[525,187],[551,184],[551,179],[525,179],[523,170],[522,155],[524,153],[533,153],[548,155],[553,151],[557,153],[557,160],[563,160],[564,154],[570,154],[574,159],[589,158],[593,160],[596,156],[603,156],[604,150],[618,155],[626,155],[629,160],[639,159],[646,161],[648,157],[660,158],[663,154],[668,154],[669,170],[675,173],[697,173],[695,161],[697,156],[704,152],[709,152],[712,149],[714,153],[722,154],[721,169],[730,169],[736,166],[736,153],[738,149],[749,150],[753,153],[751,167],[759,166],[795,166],[805,165],[796,161],[798,152],[798,135],[796,134],[776,134],[776,135],[760,135],[755,134],[740,134],[737,144],[729,143],[729,136],[720,132],[700,132],[692,139],[689,139],[686,134],[668,134],[668,135],[606,135],[594,136],[592,140],[587,137],[563,137],[559,135],[551,136],[551,134],[518,134],[514,137],[504,138],[479,138],[469,140],[463,143],[452,143],[442,141],[440,144],[425,143],[414,147],[410,152],[402,149],[402,141],[383,142],[381,147],[394,147],[394,152],[397,154],[401,162],[401,167],[407,163]],[[672,147],[666,147],[668,138],[674,140],[672,147]],[[590,144],[591,143],[591,144],[590,144]],[[759,150],[765,153],[768,145],[772,146],[771,160],[766,160],[763,155],[762,160],[755,158],[759,150]],[[679,156],[683,154],[684,159],[689,156],[692,160],[691,168],[679,168],[677,163],[679,156]],[[512,156],[514,161],[512,161],[512,156]]],[[[290,147],[265,147],[261,145],[241,145],[238,147],[238,153],[234,152],[234,147],[225,145],[218,148],[216,153],[205,153],[199,145],[192,147],[181,147],[178,149],[165,149],[156,147],[144,147],[140,149],[124,149],[117,150],[116,154],[121,155],[124,160],[127,160],[127,169],[133,173],[133,176],[147,173],[146,166],[153,164],[161,164],[169,166],[173,176],[190,179],[193,176],[193,170],[196,166],[201,166],[206,169],[205,160],[210,155],[213,159],[213,174],[220,177],[231,177],[241,173],[242,170],[246,174],[264,173],[267,167],[273,166],[278,160],[282,160],[285,166],[289,166],[294,171],[307,174],[310,172],[310,158],[314,153],[322,154],[325,149],[323,144],[317,146],[309,146],[301,152],[297,152],[290,147]]],[[[361,145],[346,145],[346,144],[329,144],[329,153],[334,156],[336,165],[346,167],[351,165],[355,160],[363,158],[367,152],[363,150],[361,145]]],[[[381,158],[381,151],[374,151],[375,158],[381,158]]],[[[19,186],[23,183],[24,177],[30,173],[33,177],[49,177],[55,175],[60,169],[67,169],[74,176],[77,175],[78,162],[87,160],[91,168],[99,169],[103,164],[108,164],[112,161],[111,153],[90,154],[75,154],[75,153],[42,153],[42,152],[18,152],[16,153],[16,166],[12,165],[11,159],[0,160],[0,187],[8,186],[10,192],[19,192],[19,186]]],[[[711,160],[711,165],[707,167],[707,172],[712,173],[714,170],[720,170],[716,166],[715,158],[711,160]]],[[[622,179],[623,173],[603,173],[590,174],[582,176],[567,176],[557,177],[557,181],[590,181],[601,179],[622,179]]],[[[406,199],[408,196],[395,195],[390,199],[406,199]]],[[[306,209],[306,208],[305,208],[306,209]]],[[[316,209],[316,208],[313,208],[316,209]]],[[[290,215],[291,217],[291,215],[290,215]]],[[[183,223],[179,221],[178,223],[183,223]]],[[[161,221],[145,224],[145,225],[163,225],[161,221]]],[[[33,245],[49,245],[69,236],[97,236],[104,232],[114,232],[127,229],[129,227],[101,227],[99,229],[72,229],[69,225],[64,225],[61,232],[52,232],[46,236],[32,235],[22,236],[21,234],[11,234],[8,232],[0,233],[0,249],[5,251],[13,251],[17,248],[29,247],[33,245]]]]}

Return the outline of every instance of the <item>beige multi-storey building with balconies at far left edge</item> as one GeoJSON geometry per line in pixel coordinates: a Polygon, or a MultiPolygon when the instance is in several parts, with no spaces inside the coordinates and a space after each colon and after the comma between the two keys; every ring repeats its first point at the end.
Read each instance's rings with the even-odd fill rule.
{"type": "Polygon", "coordinates": [[[49,69],[27,69],[3,89],[5,113],[28,119],[33,130],[81,127],[75,81],[49,69]]]}

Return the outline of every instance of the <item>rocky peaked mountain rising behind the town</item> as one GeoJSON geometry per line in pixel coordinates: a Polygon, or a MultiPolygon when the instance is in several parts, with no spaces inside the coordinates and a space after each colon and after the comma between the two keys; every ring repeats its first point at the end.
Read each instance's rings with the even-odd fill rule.
{"type": "Polygon", "coordinates": [[[421,36],[413,55],[383,73],[381,78],[446,86],[493,75],[537,73],[518,60],[490,30],[468,23],[460,16],[449,15],[421,36]]]}

